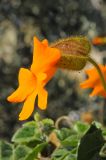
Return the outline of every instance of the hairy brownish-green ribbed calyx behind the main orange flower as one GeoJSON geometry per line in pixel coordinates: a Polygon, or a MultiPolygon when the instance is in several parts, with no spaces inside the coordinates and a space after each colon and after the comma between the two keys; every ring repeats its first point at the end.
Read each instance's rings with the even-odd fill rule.
{"type": "Polygon", "coordinates": [[[61,51],[59,68],[81,70],[85,67],[91,45],[86,37],[70,37],[51,44],[61,51]]]}

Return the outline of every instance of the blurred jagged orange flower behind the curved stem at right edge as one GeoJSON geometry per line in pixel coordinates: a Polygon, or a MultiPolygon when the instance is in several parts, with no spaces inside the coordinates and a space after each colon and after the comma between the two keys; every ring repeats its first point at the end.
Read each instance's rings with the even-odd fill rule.
{"type": "MultiPolygon", "coordinates": [[[[99,67],[106,80],[106,66],[99,65],[99,67]]],[[[106,91],[101,83],[97,70],[95,68],[92,68],[92,69],[86,70],[85,72],[89,78],[85,82],[81,83],[80,86],[82,88],[92,88],[93,91],[90,94],[90,96],[101,95],[106,97],[106,91]]]]}

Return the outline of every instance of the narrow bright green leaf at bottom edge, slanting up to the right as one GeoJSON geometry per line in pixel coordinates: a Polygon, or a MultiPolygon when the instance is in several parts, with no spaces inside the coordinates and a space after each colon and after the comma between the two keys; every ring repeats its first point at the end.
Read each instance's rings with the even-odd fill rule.
{"type": "Polygon", "coordinates": [[[27,155],[25,160],[35,160],[35,158],[38,158],[38,153],[40,153],[43,148],[47,145],[47,143],[41,143],[38,144],[35,148],[32,149],[32,151],[27,155]]]}

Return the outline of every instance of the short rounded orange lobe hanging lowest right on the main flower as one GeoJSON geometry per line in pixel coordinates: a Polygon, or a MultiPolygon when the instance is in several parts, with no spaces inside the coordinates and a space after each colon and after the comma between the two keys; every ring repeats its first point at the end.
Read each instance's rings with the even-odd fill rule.
{"type": "Polygon", "coordinates": [[[42,110],[46,109],[47,107],[47,97],[48,92],[42,88],[38,93],[38,107],[42,110]]]}

